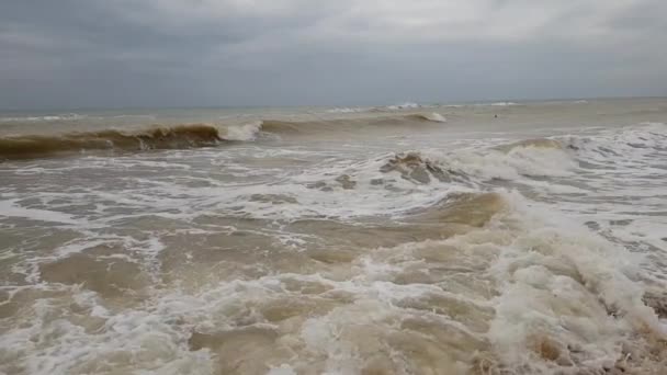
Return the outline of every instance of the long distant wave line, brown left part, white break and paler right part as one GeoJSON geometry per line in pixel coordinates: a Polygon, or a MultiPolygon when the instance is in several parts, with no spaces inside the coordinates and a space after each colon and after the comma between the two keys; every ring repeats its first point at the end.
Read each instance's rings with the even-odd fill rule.
{"type": "Polygon", "coordinates": [[[359,127],[382,128],[383,126],[410,126],[415,123],[443,123],[438,114],[414,114],[387,116],[373,120],[329,120],[290,122],[267,120],[256,123],[223,126],[211,124],[184,124],[176,126],[154,126],[142,130],[104,129],[54,135],[20,135],[0,137],[0,160],[45,158],[67,154],[95,150],[143,151],[154,149],[181,149],[210,147],[225,140],[255,140],[261,130],[282,136],[340,134],[359,127]]]}

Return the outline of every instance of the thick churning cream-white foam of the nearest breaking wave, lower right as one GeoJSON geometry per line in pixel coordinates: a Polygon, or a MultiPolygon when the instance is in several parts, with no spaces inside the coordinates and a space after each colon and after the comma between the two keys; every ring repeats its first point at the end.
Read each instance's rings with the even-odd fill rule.
{"type": "Polygon", "coordinates": [[[550,206],[529,205],[518,194],[508,200],[523,229],[494,266],[501,294],[489,331],[507,365],[550,373],[558,365],[540,355],[561,355],[579,367],[612,368],[634,329],[667,337],[642,302],[640,257],[550,206]],[[545,345],[555,349],[545,354],[545,345]]]}

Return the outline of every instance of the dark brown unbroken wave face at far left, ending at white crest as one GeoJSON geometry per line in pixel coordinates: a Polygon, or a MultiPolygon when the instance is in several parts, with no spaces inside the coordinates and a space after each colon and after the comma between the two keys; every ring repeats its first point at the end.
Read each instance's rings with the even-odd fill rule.
{"type": "Polygon", "coordinates": [[[138,151],[213,146],[223,140],[217,127],[189,124],[152,127],[136,133],[115,129],[63,135],[22,135],[0,138],[0,159],[44,158],[87,150],[138,151]]]}

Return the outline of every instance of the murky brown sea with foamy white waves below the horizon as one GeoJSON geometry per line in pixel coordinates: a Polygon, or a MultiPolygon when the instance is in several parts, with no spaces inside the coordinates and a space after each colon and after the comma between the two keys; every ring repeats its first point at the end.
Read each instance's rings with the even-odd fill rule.
{"type": "Polygon", "coordinates": [[[665,374],[665,123],[0,113],[0,374],[665,374]]]}

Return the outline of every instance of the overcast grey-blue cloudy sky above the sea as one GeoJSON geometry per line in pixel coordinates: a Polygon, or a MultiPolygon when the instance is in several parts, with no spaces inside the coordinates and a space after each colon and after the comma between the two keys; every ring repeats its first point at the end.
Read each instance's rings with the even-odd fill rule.
{"type": "Polygon", "coordinates": [[[667,95],[664,0],[2,0],[0,109],[667,95]]]}

